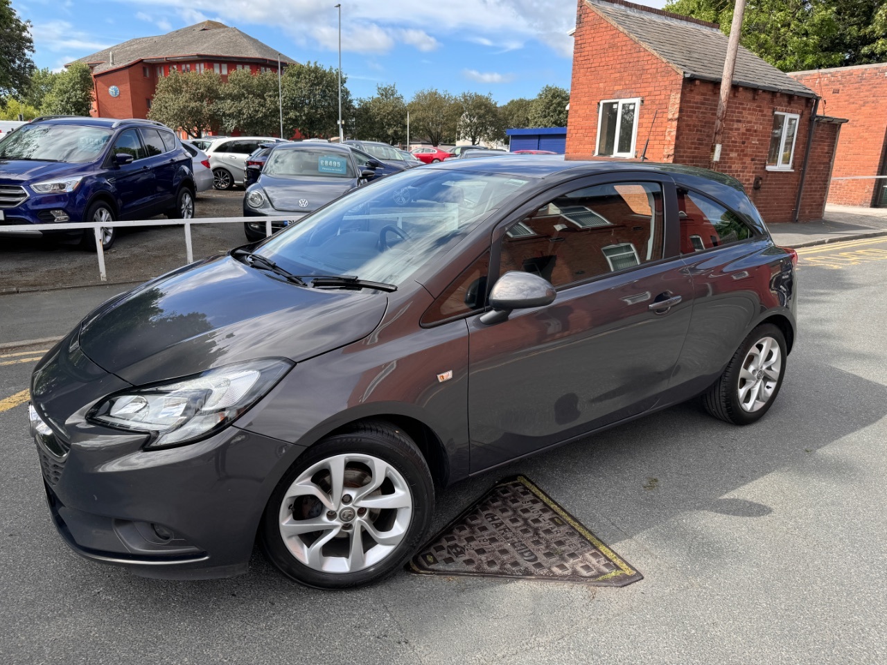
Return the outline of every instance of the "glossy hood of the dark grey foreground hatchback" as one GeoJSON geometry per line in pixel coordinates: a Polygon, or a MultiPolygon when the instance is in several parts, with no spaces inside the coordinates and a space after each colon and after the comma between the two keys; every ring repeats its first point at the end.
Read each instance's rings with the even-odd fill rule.
{"type": "Polygon", "coordinates": [[[135,385],[244,360],[299,362],[360,340],[388,305],[380,292],[296,286],[224,256],[106,302],[80,327],[80,348],[135,385]]]}

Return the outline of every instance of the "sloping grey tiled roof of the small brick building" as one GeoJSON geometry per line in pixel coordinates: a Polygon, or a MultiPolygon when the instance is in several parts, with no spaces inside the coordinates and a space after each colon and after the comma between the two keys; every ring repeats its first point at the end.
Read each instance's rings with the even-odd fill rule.
{"type": "MultiPolygon", "coordinates": [[[[631,4],[585,0],[604,19],[632,35],[687,77],[720,81],[724,73],[727,36],[718,27],[701,25],[677,16],[648,12],[631,4]]],[[[759,90],[779,90],[802,97],[816,93],[748,49],[739,47],[733,74],[735,85],[759,90]]]]}

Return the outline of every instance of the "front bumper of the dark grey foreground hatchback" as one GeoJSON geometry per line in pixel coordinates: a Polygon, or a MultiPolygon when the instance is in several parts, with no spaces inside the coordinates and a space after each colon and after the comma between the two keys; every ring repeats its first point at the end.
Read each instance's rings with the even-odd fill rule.
{"type": "Polygon", "coordinates": [[[66,543],[86,559],[163,579],[245,573],[265,503],[302,451],[236,426],[166,450],[142,450],[125,433],[75,442],[63,456],[36,446],[66,543]]]}

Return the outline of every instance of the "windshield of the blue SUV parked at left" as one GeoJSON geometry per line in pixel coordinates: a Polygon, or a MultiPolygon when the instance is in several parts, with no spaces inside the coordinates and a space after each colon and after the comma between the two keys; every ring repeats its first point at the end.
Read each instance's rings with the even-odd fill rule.
{"type": "Polygon", "coordinates": [[[111,129],[84,125],[24,125],[0,141],[0,159],[85,164],[102,153],[111,129]]]}

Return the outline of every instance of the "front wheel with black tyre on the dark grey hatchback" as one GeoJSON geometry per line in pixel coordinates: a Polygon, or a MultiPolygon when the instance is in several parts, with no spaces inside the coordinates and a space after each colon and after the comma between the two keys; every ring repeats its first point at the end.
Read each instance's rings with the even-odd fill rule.
{"type": "Polygon", "coordinates": [[[271,494],[262,544],[296,582],[343,589],[403,567],[428,532],[434,484],[403,431],[362,423],[307,450],[271,494]]]}

